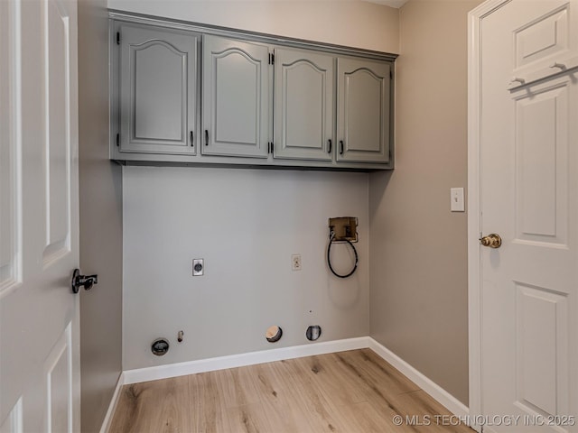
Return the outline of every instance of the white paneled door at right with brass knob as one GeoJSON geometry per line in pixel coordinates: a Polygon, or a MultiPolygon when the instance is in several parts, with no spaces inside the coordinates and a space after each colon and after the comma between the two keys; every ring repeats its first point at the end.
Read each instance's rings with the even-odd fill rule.
{"type": "Polygon", "coordinates": [[[484,431],[578,431],[577,14],[513,0],[480,24],[484,431]]]}

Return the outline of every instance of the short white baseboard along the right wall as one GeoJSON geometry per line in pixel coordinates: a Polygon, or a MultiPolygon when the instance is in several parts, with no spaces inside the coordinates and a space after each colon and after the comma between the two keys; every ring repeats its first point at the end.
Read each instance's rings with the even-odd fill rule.
{"type": "Polygon", "coordinates": [[[384,345],[380,345],[376,340],[368,337],[369,348],[376,354],[385,359],[389,364],[392,364],[401,373],[405,374],[412,382],[415,382],[424,392],[427,392],[436,401],[439,401],[445,409],[450,410],[453,415],[466,419],[470,414],[470,409],[461,401],[445,391],[440,385],[433,382],[426,377],[424,373],[420,373],[413,366],[407,364],[406,361],[387,349],[384,345]]]}

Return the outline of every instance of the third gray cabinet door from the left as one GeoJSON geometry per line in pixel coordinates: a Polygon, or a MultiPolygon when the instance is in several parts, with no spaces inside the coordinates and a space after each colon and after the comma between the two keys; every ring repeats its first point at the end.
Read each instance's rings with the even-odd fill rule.
{"type": "Polygon", "coordinates": [[[331,161],[333,62],[328,54],[275,49],[275,158],[331,161]]]}

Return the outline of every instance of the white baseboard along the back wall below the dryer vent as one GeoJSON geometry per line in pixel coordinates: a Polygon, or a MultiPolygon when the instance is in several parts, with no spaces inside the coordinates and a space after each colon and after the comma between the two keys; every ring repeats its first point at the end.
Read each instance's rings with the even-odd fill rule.
{"type": "Polygon", "coordinates": [[[219,356],[217,358],[199,359],[179,364],[159,365],[139,368],[124,372],[125,384],[155,381],[169,377],[184,376],[194,373],[212,372],[226,368],[244,367],[246,365],[271,363],[284,359],[301,358],[303,356],[332,354],[345,350],[355,350],[368,347],[368,337],[360,336],[344,340],[324,341],[310,345],[294,345],[279,349],[249,352],[247,354],[219,356]]]}

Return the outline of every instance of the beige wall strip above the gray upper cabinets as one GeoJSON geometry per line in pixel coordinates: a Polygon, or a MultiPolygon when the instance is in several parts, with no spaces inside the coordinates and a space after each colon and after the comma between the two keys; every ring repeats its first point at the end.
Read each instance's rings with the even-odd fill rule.
{"type": "Polygon", "coordinates": [[[399,11],[357,0],[108,0],[108,7],[368,50],[399,50],[399,11]]]}

